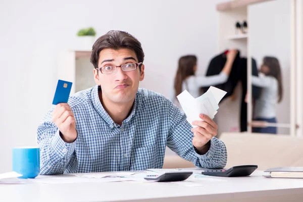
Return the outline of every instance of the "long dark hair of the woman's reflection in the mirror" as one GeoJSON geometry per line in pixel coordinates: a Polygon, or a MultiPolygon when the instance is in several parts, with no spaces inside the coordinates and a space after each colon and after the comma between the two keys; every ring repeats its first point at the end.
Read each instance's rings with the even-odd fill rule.
{"type": "Polygon", "coordinates": [[[263,58],[263,65],[269,68],[269,72],[266,75],[273,76],[278,81],[278,103],[280,103],[283,96],[283,88],[282,88],[282,74],[281,74],[279,60],[275,57],[266,56],[263,58]]]}

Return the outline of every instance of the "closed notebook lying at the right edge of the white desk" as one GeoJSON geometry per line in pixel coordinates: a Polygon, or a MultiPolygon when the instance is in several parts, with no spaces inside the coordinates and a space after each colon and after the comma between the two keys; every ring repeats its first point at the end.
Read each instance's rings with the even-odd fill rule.
{"type": "Polygon", "coordinates": [[[303,178],[303,167],[275,167],[264,172],[269,178],[303,178]]]}

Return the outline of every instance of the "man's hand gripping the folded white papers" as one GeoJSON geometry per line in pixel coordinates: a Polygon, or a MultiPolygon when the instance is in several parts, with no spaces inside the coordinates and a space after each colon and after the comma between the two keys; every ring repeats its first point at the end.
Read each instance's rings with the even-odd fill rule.
{"type": "Polygon", "coordinates": [[[191,129],[191,132],[193,132],[192,144],[199,151],[200,155],[204,155],[210,149],[210,143],[208,142],[218,133],[218,126],[205,114],[200,114],[199,117],[204,121],[192,122],[192,125],[197,126],[191,129]]]}

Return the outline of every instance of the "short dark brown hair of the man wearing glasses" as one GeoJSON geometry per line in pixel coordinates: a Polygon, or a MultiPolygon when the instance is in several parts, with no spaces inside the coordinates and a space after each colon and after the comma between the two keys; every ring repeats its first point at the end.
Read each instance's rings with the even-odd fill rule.
{"type": "MultiPolygon", "coordinates": [[[[141,43],[133,35],[119,30],[112,30],[103,36],[100,36],[92,46],[90,62],[94,68],[98,68],[99,54],[105,48],[118,50],[120,48],[132,49],[138,59],[138,63],[143,63],[144,52],[141,43]]],[[[139,66],[141,70],[141,65],[139,66]]]]}

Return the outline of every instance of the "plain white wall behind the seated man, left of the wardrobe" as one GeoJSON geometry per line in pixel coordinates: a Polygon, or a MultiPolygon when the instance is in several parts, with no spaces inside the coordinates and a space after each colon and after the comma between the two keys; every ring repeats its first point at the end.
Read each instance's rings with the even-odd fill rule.
{"type": "MultiPolygon", "coordinates": [[[[177,60],[196,54],[204,73],[217,54],[217,12],[223,0],[199,1],[12,1],[0,6],[0,172],[11,171],[11,149],[36,145],[36,127],[51,107],[58,53],[76,47],[78,29],[97,35],[125,30],[145,52],[141,87],[165,95],[177,60]]],[[[90,71],[90,70],[88,70],[90,71]]]]}

